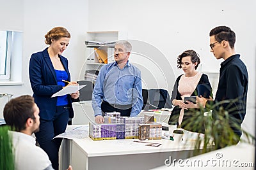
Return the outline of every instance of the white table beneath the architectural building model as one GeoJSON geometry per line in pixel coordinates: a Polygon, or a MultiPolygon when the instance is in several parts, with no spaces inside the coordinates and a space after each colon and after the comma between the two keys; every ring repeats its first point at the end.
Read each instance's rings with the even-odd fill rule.
{"type": "MultiPolygon", "coordinates": [[[[60,169],[152,169],[163,166],[164,161],[186,159],[194,151],[193,140],[175,144],[168,139],[143,142],[161,143],[160,146],[146,146],[139,139],[117,139],[93,141],[91,138],[63,139],[60,148],[60,169]]],[[[195,141],[194,141],[195,142],[195,141]]]]}

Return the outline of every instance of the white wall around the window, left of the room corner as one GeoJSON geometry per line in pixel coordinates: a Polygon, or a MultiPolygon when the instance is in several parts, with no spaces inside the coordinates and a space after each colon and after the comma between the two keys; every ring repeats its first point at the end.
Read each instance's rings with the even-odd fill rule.
{"type": "Polygon", "coordinates": [[[28,65],[32,53],[44,50],[44,35],[52,27],[63,26],[71,34],[70,45],[63,53],[68,58],[72,80],[79,77],[84,62],[85,32],[88,29],[87,0],[0,0],[0,29],[24,32],[22,81],[24,85],[0,86],[0,93],[20,96],[33,92],[29,83],[28,65]],[[3,17],[5,16],[5,18],[3,17]]]}

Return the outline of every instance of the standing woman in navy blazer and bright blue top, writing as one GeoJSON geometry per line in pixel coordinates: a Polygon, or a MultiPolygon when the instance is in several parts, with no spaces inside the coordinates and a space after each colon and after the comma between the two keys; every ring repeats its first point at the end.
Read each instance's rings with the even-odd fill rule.
{"type": "Polygon", "coordinates": [[[67,85],[77,85],[76,82],[65,83],[70,81],[70,73],[68,60],[61,54],[67,49],[69,41],[70,33],[67,29],[54,27],[45,35],[45,43],[49,48],[33,53],[29,62],[33,97],[40,109],[40,130],[35,136],[40,147],[49,156],[54,169],[58,169],[58,151],[62,139],[52,138],[65,132],[68,118],[74,117],[71,98],[79,97],[79,91],[70,95],[51,97],[67,85]]]}

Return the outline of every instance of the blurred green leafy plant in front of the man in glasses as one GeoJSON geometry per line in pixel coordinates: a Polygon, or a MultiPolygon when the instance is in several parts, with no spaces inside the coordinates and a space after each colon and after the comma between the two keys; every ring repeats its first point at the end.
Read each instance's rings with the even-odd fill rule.
{"type": "Polygon", "coordinates": [[[224,148],[225,146],[235,145],[237,139],[237,134],[233,131],[234,128],[241,129],[246,139],[239,139],[240,142],[252,143],[255,141],[255,136],[244,131],[240,125],[237,123],[236,118],[230,116],[228,113],[233,111],[234,108],[226,107],[223,108],[223,104],[231,106],[230,103],[234,101],[221,101],[216,104],[207,105],[205,108],[200,108],[200,110],[191,110],[188,114],[191,116],[188,120],[184,120],[185,127],[188,131],[198,132],[202,131],[202,126],[204,126],[204,137],[202,135],[197,136],[195,142],[195,151],[198,155],[200,153],[206,153],[219,148],[224,148]],[[228,105],[229,104],[229,105],[228,105]],[[212,118],[211,110],[214,110],[214,118],[212,118]],[[228,108],[228,109],[227,109],[228,108]]]}

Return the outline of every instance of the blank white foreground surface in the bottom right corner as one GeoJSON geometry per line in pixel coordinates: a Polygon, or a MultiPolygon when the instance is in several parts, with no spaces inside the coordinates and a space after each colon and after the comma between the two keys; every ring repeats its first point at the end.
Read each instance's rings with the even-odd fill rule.
{"type": "Polygon", "coordinates": [[[167,169],[255,169],[255,145],[238,143],[212,152],[197,155],[182,161],[176,160],[168,166],[160,166],[154,170],[167,169]]]}

